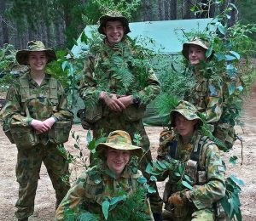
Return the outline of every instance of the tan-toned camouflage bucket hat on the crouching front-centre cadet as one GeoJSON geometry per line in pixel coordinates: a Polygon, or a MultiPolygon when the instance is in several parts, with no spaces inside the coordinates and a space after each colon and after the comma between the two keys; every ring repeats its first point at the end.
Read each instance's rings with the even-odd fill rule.
{"type": "Polygon", "coordinates": [[[96,146],[96,154],[104,159],[104,152],[107,148],[131,150],[131,155],[138,157],[143,156],[143,149],[139,146],[132,145],[129,133],[122,130],[109,133],[106,143],[100,143],[96,146]]]}

